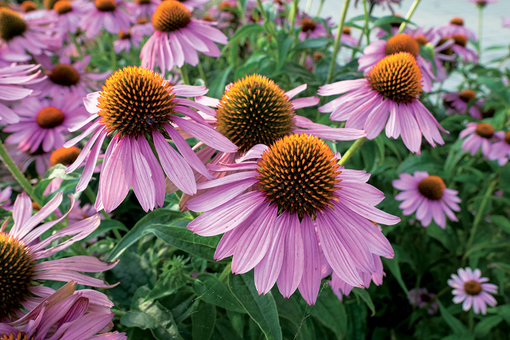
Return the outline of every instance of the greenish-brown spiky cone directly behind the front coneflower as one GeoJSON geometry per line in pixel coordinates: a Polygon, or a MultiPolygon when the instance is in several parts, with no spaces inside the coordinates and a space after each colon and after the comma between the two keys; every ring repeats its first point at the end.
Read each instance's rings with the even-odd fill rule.
{"type": "Polygon", "coordinates": [[[267,77],[252,74],[225,91],[218,105],[216,125],[244,152],[253,145],[270,145],[290,134],[294,116],[285,91],[267,77]]]}

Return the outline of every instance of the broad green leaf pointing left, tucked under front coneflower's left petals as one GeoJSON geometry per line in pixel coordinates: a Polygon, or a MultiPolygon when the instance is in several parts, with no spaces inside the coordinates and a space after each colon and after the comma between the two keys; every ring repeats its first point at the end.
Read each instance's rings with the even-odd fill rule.
{"type": "MultiPolygon", "coordinates": [[[[189,221],[187,218],[181,220],[189,221]]],[[[221,238],[220,236],[203,237],[194,234],[193,231],[186,227],[176,227],[166,224],[152,224],[142,231],[142,235],[148,233],[155,234],[159,239],[165,241],[169,245],[208,260],[213,260],[216,246],[221,238]]]]}

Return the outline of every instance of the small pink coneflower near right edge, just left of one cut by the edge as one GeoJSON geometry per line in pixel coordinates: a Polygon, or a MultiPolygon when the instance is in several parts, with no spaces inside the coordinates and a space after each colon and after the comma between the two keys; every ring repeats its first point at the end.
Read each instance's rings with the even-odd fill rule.
{"type": "Polygon", "coordinates": [[[488,158],[491,145],[494,141],[494,127],[489,123],[468,123],[458,138],[467,137],[462,142],[462,149],[471,152],[474,156],[479,149],[485,158],[488,158]]]}

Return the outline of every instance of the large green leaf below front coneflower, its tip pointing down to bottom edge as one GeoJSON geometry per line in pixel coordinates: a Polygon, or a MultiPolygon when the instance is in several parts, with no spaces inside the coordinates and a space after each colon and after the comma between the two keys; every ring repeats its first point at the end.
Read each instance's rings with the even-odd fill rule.
{"type": "Polygon", "coordinates": [[[282,340],[282,328],[271,292],[259,295],[255,287],[253,271],[241,275],[229,275],[228,286],[244,306],[250,318],[257,323],[268,340],[282,340]]]}

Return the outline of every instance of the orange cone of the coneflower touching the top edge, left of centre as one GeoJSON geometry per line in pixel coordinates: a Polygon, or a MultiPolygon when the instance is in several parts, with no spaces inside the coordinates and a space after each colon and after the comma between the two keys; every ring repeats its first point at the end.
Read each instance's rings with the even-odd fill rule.
{"type": "Polygon", "coordinates": [[[152,25],[159,32],[177,31],[185,28],[190,22],[190,10],[175,0],[162,2],[152,14],[152,25]]]}

